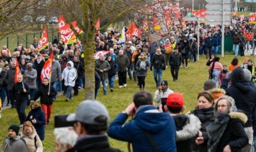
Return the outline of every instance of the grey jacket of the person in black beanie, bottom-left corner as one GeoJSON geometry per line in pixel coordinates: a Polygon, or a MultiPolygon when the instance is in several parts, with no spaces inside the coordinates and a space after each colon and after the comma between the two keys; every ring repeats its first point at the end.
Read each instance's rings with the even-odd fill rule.
{"type": "Polygon", "coordinates": [[[5,138],[4,143],[2,143],[1,152],[10,151],[29,152],[26,146],[26,142],[21,139],[21,136],[16,136],[15,139],[10,139],[9,136],[5,138]]]}

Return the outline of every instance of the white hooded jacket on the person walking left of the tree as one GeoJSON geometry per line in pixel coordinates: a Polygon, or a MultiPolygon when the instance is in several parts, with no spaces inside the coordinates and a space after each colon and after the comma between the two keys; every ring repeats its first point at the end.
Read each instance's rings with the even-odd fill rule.
{"type": "Polygon", "coordinates": [[[65,86],[74,87],[77,78],[77,71],[76,68],[74,68],[73,61],[68,61],[68,63],[66,63],[66,67],[62,72],[62,78],[65,86]],[[71,67],[68,67],[68,64],[70,64],[71,67]]]}

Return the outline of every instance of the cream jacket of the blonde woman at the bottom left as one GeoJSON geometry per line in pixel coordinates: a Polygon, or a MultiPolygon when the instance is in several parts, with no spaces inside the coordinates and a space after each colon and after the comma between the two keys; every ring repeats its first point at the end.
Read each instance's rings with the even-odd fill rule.
{"type": "Polygon", "coordinates": [[[24,127],[22,128],[20,134],[21,138],[25,140],[29,152],[43,152],[43,144],[37,134],[37,131],[35,131],[34,126],[32,126],[32,133],[30,133],[29,135],[27,135],[24,127]]]}

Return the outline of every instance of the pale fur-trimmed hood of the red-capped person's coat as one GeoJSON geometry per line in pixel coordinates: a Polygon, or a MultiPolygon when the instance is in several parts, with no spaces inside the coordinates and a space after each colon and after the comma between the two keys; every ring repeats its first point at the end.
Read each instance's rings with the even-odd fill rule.
{"type": "Polygon", "coordinates": [[[201,129],[201,122],[194,114],[188,114],[187,116],[179,114],[172,117],[174,118],[176,128],[182,127],[181,130],[176,131],[176,141],[191,139],[201,129]],[[182,124],[181,122],[184,123],[182,124]]]}

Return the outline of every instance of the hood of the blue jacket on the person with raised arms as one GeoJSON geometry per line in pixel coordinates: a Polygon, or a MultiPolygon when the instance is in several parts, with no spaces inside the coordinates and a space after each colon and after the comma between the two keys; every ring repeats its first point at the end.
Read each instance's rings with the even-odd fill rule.
{"type": "Polygon", "coordinates": [[[159,112],[157,108],[151,105],[140,106],[136,111],[136,123],[145,131],[151,133],[158,133],[166,126],[172,119],[168,112],[159,112]]]}

